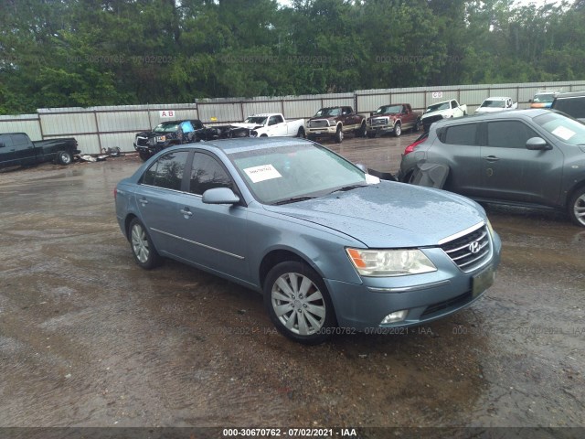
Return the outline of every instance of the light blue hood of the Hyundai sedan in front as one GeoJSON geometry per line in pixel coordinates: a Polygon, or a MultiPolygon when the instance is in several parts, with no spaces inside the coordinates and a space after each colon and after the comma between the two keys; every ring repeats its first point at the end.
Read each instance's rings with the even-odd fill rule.
{"type": "Polygon", "coordinates": [[[386,181],[265,209],[337,230],[369,248],[435,246],[485,219],[468,198],[386,181]]]}

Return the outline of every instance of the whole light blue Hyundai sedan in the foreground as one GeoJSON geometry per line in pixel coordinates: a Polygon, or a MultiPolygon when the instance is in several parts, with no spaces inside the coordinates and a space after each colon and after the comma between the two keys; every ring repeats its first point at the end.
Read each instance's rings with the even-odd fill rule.
{"type": "Polygon", "coordinates": [[[171,258],[256,290],[275,327],[306,344],[448,316],[500,261],[474,201],[380,181],[301,139],[172,147],[115,194],[138,265],[171,258]]]}

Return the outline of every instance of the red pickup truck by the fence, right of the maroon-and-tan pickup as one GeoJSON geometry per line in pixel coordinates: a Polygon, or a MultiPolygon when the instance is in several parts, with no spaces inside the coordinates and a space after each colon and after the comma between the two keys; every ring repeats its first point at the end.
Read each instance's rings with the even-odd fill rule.
{"type": "Polygon", "coordinates": [[[366,121],[367,137],[376,134],[392,133],[399,137],[404,130],[418,132],[422,123],[420,112],[413,112],[410,103],[382,105],[376,112],[370,113],[366,121]]]}

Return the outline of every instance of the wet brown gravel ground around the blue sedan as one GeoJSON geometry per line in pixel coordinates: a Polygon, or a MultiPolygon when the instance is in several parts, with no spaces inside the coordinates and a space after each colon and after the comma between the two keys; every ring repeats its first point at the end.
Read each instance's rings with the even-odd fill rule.
{"type": "MultiPolygon", "coordinates": [[[[327,145],[396,172],[415,138],[327,145]]],[[[585,424],[585,230],[562,214],[486,207],[503,261],[471,308],[304,347],[258,294],[133,262],[112,190],[139,165],[0,173],[0,427],[585,424]]]]}

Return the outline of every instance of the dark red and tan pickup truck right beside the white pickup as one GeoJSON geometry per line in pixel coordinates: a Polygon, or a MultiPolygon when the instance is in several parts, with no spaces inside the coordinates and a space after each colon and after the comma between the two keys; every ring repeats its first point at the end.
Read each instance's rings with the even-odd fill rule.
{"type": "Polygon", "coordinates": [[[310,140],[333,137],[341,144],[347,133],[358,137],[366,135],[366,118],[351,107],[325,107],[307,121],[307,138],[310,140]]]}

